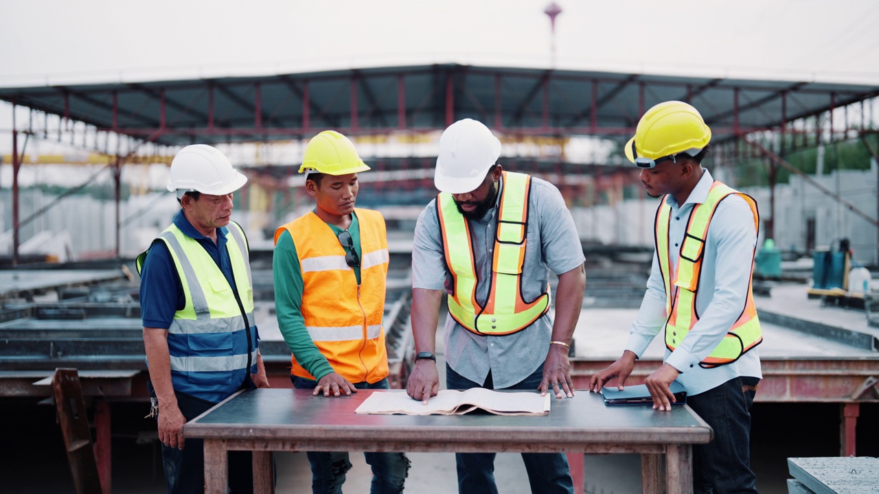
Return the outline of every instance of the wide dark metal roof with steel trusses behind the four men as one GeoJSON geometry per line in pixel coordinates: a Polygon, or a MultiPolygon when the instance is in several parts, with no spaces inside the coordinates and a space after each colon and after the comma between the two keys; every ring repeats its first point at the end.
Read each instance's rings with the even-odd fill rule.
{"type": "Polygon", "coordinates": [[[474,118],[498,131],[627,137],[644,110],[678,99],[716,142],[783,128],[879,96],[879,85],[651,76],[458,64],[271,76],[0,88],[0,99],[99,132],[168,146],[432,130],[474,118]]]}

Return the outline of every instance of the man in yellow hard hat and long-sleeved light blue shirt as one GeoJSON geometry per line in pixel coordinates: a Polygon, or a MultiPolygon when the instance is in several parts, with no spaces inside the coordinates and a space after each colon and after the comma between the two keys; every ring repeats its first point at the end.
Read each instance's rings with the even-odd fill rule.
{"type": "Polygon", "coordinates": [[[650,197],[662,197],[647,293],[619,360],[594,374],[592,391],[614,377],[620,389],[635,360],[665,331],[665,361],[645,383],[654,410],[671,410],[679,381],[686,403],[714,429],[694,446],[695,492],[757,492],[751,415],[762,378],[763,341],[751,290],[759,214],[750,197],[702,168],[711,129],[691,105],[667,101],[638,122],[625,148],[650,197]]]}

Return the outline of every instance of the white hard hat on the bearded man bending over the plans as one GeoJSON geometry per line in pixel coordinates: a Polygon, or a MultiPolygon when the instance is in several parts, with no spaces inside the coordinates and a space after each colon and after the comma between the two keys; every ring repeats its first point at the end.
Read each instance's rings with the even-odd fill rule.
{"type": "Polygon", "coordinates": [[[499,156],[500,141],[489,127],[472,119],[458,120],[439,137],[433,184],[444,193],[473,192],[499,156]]]}

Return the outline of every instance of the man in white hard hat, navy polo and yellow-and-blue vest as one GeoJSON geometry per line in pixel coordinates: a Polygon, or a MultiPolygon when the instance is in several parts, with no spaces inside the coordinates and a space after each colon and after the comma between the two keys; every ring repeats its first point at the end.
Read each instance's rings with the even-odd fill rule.
{"type": "MultiPolygon", "coordinates": [[[[218,149],[195,144],[171,162],[180,211],[137,258],[151,416],[168,492],[204,491],[202,440],[183,425],[238,389],[268,388],[253,318],[250,253],[230,220],[247,178],[218,149]]],[[[252,492],[251,454],[229,453],[229,492],[252,492]]]]}

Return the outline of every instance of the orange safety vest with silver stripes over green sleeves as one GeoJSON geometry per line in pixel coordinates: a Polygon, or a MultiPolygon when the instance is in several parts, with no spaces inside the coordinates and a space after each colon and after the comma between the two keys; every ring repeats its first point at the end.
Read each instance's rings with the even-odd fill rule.
{"type": "MultiPolygon", "coordinates": [[[[388,237],[378,211],[354,209],[360,223],[360,285],[345,264],[345,249],[314,212],[275,231],[293,237],[302,272],[301,312],[311,339],[333,370],[348,381],[374,383],[388,376],[381,318],[388,276],[388,237]]],[[[314,380],[291,356],[291,374],[314,380]]]]}

